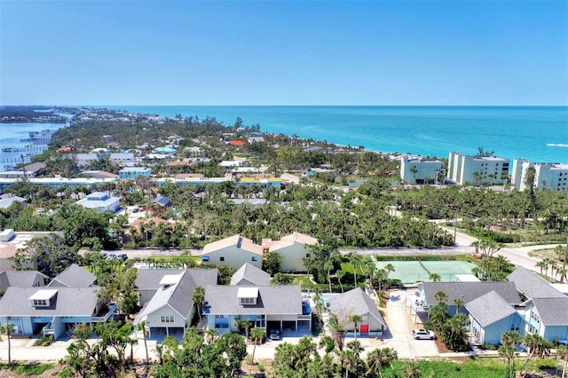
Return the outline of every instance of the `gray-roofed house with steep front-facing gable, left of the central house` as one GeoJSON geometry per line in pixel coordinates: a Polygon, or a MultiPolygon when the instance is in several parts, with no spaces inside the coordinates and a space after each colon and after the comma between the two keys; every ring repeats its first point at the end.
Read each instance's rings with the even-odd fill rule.
{"type": "Polygon", "coordinates": [[[153,330],[166,335],[175,330],[183,332],[193,319],[193,290],[216,285],[217,276],[217,269],[138,270],[135,287],[143,307],[134,324],[147,321],[150,335],[153,330]]]}

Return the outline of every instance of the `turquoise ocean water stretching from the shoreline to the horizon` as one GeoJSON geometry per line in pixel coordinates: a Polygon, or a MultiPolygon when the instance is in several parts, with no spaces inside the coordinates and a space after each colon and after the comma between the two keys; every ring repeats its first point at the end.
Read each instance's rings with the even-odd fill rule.
{"type": "Polygon", "coordinates": [[[383,153],[447,157],[450,151],[568,162],[568,106],[106,106],[173,117],[216,117],[300,138],[383,153]]]}

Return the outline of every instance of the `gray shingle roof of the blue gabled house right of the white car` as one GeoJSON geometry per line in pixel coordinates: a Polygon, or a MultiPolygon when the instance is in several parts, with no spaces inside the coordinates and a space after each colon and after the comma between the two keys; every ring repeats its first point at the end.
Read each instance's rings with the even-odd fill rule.
{"type": "Polygon", "coordinates": [[[514,314],[515,309],[501,295],[494,291],[481,295],[471,302],[465,303],[465,309],[481,325],[487,327],[494,322],[514,314]]]}

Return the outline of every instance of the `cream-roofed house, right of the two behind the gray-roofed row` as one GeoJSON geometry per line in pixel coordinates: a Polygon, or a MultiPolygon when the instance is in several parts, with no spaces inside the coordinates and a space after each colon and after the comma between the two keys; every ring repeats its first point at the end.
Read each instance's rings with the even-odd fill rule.
{"type": "Polygon", "coordinates": [[[306,272],[304,258],[311,255],[309,247],[317,244],[316,238],[300,232],[293,232],[280,240],[262,240],[264,252],[276,252],[282,256],[282,272],[306,272]]]}

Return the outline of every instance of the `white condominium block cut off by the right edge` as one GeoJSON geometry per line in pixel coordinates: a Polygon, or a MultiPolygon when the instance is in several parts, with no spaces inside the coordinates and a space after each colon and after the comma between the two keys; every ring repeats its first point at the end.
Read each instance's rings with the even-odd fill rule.
{"type": "Polygon", "coordinates": [[[534,168],[534,188],[551,188],[568,192],[568,163],[533,162],[525,159],[513,160],[511,185],[519,191],[528,189],[525,185],[526,169],[534,168]]]}

